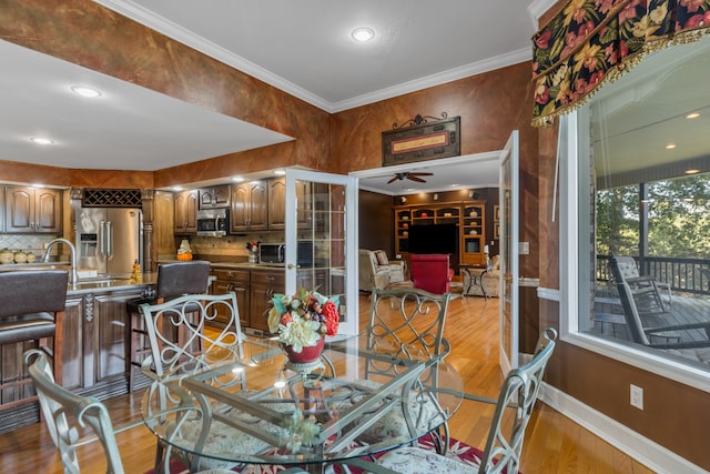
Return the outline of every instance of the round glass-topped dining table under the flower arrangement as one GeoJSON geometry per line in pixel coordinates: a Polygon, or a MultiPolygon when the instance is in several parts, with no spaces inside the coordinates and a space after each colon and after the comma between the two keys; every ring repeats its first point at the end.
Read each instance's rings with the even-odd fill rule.
{"type": "Polygon", "coordinates": [[[207,350],[143,395],[143,421],[161,451],[155,472],[169,472],[164,460],[174,456],[191,472],[246,465],[323,472],[426,434],[448,436],[446,422],[463,397],[459,373],[445,360],[395,353],[389,342],[365,335],[327,342],[311,364],[291,363],[268,339],[207,350]]]}

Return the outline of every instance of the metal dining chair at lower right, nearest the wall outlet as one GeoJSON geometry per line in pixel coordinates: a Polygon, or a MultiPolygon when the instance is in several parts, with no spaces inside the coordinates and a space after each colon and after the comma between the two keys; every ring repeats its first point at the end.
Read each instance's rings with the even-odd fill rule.
{"type": "Polygon", "coordinates": [[[551,327],[542,331],[535,355],[528,363],[508,373],[497,400],[473,394],[464,395],[466,400],[496,405],[478,465],[464,464],[432,451],[412,446],[390,451],[375,463],[359,458],[346,461],[343,464],[377,474],[517,473],[525,431],[537,401],[547,362],[555,350],[556,340],[557,331],[551,327]]]}

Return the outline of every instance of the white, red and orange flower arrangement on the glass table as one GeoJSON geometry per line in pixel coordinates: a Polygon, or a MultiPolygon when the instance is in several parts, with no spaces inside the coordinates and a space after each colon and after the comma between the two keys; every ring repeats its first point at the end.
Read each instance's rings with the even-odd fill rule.
{"type": "Polygon", "coordinates": [[[295,295],[275,294],[268,312],[268,330],[293,352],[323,344],[335,335],[339,324],[339,296],[327,297],[316,291],[300,289],[295,295]]]}

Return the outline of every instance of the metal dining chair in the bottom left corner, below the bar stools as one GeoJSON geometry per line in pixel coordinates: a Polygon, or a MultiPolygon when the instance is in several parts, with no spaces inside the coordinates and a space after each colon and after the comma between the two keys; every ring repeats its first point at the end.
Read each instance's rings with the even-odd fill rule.
{"type": "MultiPolygon", "coordinates": [[[[24,364],[34,383],[47,428],[59,451],[64,473],[79,474],[77,448],[99,441],[106,458],[106,474],[123,474],[123,463],[115,441],[116,431],[105,405],[98,399],[77,395],[58,385],[44,352],[36,349],[27,351],[24,364]]],[[[126,425],[124,428],[134,426],[136,424],[126,425]]],[[[224,470],[202,472],[217,473],[233,474],[232,471],[224,470]]]]}

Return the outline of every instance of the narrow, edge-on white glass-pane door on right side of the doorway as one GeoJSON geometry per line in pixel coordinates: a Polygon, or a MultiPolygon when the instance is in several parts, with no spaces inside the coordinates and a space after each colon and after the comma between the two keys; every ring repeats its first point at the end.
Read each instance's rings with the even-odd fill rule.
{"type": "Polygon", "coordinates": [[[500,155],[500,367],[518,366],[518,131],[500,155]]]}

